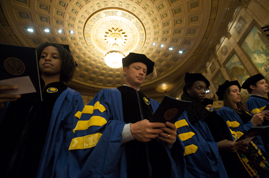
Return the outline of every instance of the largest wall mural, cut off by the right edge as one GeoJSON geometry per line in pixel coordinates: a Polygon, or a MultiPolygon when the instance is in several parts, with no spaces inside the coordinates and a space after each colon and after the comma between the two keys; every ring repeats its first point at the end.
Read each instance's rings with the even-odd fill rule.
{"type": "Polygon", "coordinates": [[[269,41],[253,27],[242,42],[242,47],[261,74],[269,79],[269,41]]]}

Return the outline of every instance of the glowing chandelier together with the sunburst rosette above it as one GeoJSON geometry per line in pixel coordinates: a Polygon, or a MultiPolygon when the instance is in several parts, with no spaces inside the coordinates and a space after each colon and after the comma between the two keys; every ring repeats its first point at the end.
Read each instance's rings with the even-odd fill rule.
{"type": "Polygon", "coordinates": [[[105,54],[105,62],[111,68],[122,67],[122,58],[125,57],[123,50],[127,36],[122,30],[114,29],[109,30],[105,35],[105,42],[111,47],[105,54]]]}

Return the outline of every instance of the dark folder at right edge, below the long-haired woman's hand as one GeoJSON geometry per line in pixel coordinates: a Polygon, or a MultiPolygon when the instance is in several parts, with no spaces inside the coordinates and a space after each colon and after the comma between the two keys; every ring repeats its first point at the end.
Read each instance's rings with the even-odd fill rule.
{"type": "Polygon", "coordinates": [[[249,143],[255,136],[264,132],[265,129],[268,129],[269,126],[252,126],[247,130],[245,134],[240,136],[236,141],[245,140],[246,143],[249,143]]]}

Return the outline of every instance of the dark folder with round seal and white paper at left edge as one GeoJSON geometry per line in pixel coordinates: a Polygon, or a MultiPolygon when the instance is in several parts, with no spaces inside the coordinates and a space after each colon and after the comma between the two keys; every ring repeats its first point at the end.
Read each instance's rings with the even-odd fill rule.
{"type": "Polygon", "coordinates": [[[1,93],[22,94],[22,98],[26,94],[29,100],[42,101],[36,48],[0,44],[0,54],[0,85],[18,87],[1,93]]]}

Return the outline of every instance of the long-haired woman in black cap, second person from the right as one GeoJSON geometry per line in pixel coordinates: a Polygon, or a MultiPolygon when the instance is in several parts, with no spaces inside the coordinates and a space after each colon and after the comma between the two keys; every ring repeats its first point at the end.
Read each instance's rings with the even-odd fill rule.
{"type": "MultiPolygon", "coordinates": [[[[241,102],[241,86],[238,81],[229,82],[226,80],[224,84],[219,86],[216,94],[219,100],[224,101],[224,107],[219,110],[221,116],[226,120],[229,128],[235,131],[236,136],[240,137],[252,126],[258,126],[263,123],[264,114],[258,112],[257,114],[251,113],[245,104],[241,102]]],[[[265,151],[263,141],[258,135],[252,139],[258,146],[266,159],[269,158],[265,151]]],[[[263,170],[257,168],[260,177],[267,178],[263,170]]]]}

